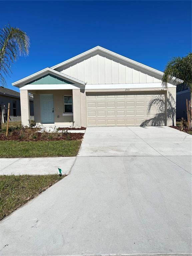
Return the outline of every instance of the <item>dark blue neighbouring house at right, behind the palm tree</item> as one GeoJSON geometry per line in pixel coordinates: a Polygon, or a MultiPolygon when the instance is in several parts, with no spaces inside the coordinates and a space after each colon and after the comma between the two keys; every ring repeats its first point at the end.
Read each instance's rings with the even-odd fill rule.
{"type": "Polygon", "coordinates": [[[186,99],[190,100],[190,90],[182,84],[177,86],[176,91],[176,119],[182,117],[187,120],[187,104],[186,99]]]}

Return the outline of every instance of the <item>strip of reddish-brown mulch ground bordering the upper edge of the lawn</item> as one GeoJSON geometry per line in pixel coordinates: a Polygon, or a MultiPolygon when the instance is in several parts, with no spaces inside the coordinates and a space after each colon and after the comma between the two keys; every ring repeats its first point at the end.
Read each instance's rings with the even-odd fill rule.
{"type": "Polygon", "coordinates": [[[81,140],[84,133],[41,133],[36,132],[30,134],[30,136],[23,136],[17,131],[11,132],[8,138],[6,135],[1,133],[0,140],[18,140],[18,141],[53,141],[53,140],[81,140]]]}

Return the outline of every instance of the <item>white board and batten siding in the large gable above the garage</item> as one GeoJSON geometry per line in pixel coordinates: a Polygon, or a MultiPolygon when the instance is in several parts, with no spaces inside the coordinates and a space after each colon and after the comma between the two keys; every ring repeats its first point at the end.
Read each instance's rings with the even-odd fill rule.
{"type": "Polygon", "coordinates": [[[102,54],[86,56],[57,71],[87,84],[160,83],[158,75],[102,54]]]}

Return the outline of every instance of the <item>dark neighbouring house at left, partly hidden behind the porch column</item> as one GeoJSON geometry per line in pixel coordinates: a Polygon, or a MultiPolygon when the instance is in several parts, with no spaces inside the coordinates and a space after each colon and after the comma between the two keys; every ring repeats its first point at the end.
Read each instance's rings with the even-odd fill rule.
{"type": "MultiPolygon", "coordinates": [[[[2,123],[7,122],[8,103],[10,103],[9,122],[21,121],[20,93],[0,86],[0,105],[2,123]]],[[[29,119],[34,119],[32,97],[29,97],[29,106],[29,119]]]]}

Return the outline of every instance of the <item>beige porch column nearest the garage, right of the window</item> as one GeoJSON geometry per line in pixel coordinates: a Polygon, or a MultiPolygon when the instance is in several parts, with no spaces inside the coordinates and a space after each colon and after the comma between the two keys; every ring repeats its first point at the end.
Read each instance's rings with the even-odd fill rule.
{"type": "Polygon", "coordinates": [[[73,90],[73,121],[74,121],[74,126],[81,127],[80,89],[73,90]]]}

